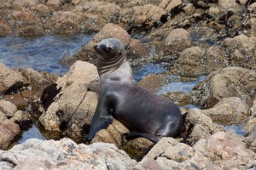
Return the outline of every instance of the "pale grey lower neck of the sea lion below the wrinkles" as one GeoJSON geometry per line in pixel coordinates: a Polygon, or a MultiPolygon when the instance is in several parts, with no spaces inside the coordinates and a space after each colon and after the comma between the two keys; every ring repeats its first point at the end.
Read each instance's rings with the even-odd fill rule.
{"type": "Polygon", "coordinates": [[[108,71],[103,71],[102,74],[100,74],[100,71],[99,71],[100,68],[98,68],[101,81],[110,81],[110,82],[118,81],[123,83],[135,82],[131,73],[131,65],[125,57],[121,59],[120,63],[115,63],[114,65],[116,66],[110,67],[109,65],[108,71]]]}

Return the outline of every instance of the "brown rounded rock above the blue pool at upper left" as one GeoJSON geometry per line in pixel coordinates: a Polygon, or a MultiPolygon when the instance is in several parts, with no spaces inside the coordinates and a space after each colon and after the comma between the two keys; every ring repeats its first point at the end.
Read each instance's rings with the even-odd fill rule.
{"type": "Polygon", "coordinates": [[[58,11],[44,25],[46,31],[55,34],[73,34],[82,30],[83,17],[70,11],[58,11]]]}

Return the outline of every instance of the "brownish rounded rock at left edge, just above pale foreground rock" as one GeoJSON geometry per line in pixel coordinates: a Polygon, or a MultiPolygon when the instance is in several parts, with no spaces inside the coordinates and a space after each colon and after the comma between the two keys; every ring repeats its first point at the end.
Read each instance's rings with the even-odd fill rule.
{"type": "Polygon", "coordinates": [[[19,125],[14,121],[5,119],[0,124],[0,149],[7,149],[19,133],[19,125]]]}

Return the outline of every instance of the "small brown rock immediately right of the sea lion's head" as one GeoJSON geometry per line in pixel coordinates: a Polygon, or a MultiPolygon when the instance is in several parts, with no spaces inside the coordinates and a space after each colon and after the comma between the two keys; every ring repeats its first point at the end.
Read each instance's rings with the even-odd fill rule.
{"type": "Polygon", "coordinates": [[[128,59],[141,59],[149,56],[149,50],[137,39],[131,38],[130,45],[127,49],[128,59]]]}

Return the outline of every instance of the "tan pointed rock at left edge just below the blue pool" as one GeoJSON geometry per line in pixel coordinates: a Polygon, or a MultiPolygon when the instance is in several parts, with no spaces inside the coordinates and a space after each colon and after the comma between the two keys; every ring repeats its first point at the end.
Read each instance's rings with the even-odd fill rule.
{"type": "Polygon", "coordinates": [[[26,86],[27,83],[26,78],[22,77],[20,73],[0,63],[0,94],[9,93],[16,88],[26,86]]]}

